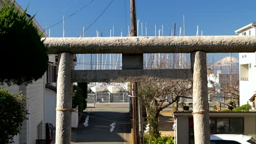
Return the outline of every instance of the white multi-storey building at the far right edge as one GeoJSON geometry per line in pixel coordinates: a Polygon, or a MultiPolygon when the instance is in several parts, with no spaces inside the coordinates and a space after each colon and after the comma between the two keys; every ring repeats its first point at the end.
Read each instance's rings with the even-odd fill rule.
{"type": "MultiPolygon", "coordinates": [[[[256,22],[235,31],[238,35],[256,36],[256,22]]],[[[256,53],[239,53],[240,71],[240,105],[252,103],[250,98],[256,93],[256,53]]]]}

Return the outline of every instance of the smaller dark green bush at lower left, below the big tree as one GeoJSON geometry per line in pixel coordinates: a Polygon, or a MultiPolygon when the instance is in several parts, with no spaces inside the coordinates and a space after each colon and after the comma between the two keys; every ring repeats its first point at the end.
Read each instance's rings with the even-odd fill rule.
{"type": "Polygon", "coordinates": [[[13,141],[26,119],[25,96],[0,89],[0,143],[13,141]]]}

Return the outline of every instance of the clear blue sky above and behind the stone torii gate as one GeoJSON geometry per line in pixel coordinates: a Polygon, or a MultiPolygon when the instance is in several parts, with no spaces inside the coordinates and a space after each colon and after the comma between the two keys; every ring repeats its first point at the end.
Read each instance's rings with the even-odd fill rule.
{"type": "MultiPolygon", "coordinates": [[[[27,13],[36,14],[36,20],[42,28],[54,25],[79,10],[91,0],[17,0],[22,8],[29,4],[27,13]]],[[[78,37],[83,26],[87,28],[112,0],[94,0],[83,10],[65,20],[65,37],[78,37]]],[[[235,35],[235,30],[255,20],[256,1],[205,1],[205,0],[137,0],[137,19],[147,22],[148,35],[155,35],[154,25],[157,29],[164,25],[164,35],[169,35],[174,23],[178,28],[183,26],[185,15],[185,35],[196,35],[196,26],[203,35],[235,35]]],[[[103,37],[109,37],[110,29],[114,25],[114,36],[127,34],[130,25],[130,1],[114,0],[105,13],[85,32],[85,37],[95,37],[96,30],[103,33],[103,37]],[[125,7],[126,6],[126,7],[125,7]],[[125,19],[126,17],[126,19],[125,19]]],[[[141,25],[141,24],[140,24],[141,25]]],[[[144,29],[143,29],[144,31],[144,29]]],[[[145,32],[145,31],[144,31],[145,32]]],[[[141,31],[139,30],[139,33],[141,31]]],[[[62,37],[62,22],[51,28],[51,37],[62,37]]],[[[218,61],[225,54],[210,54],[218,61]]],[[[237,57],[237,53],[234,53],[237,57]]]]}

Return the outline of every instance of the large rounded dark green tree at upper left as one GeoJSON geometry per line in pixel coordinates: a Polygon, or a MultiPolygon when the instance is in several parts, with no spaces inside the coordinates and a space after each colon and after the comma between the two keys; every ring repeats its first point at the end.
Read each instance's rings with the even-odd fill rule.
{"type": "Polygon", "coordinates": [[[32,25],[33,18],[26,10],[19,14],[14,4],[6,3],[0,9],[1,83],[32,83],[48,69],[46,48],[32,25]]]}

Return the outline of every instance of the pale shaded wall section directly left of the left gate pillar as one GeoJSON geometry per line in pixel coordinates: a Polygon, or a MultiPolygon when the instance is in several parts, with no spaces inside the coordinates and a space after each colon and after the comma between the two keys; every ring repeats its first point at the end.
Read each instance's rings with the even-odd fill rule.
{"type": "Polygon", "coordinates": [[[56,92],[45,89],[45,123],[51,123],[56,126],[56,92]]]}

